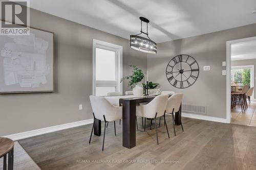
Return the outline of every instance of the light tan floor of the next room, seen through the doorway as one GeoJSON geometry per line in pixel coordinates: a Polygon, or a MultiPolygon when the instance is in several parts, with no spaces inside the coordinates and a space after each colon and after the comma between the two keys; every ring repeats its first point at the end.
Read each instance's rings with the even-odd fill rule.
{"type": "Polygon", "coordinates": [[[248,108],[242,113],[241,107],[231,109],[231,124],[249,125],[256,127],[256,102],[248,103],[248,108]]]}

